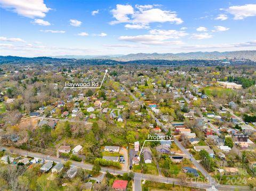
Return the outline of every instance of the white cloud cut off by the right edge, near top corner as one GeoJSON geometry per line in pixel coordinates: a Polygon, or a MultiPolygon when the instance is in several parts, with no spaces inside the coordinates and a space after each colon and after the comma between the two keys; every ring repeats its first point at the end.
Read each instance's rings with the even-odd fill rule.
{"type": "Polygon", "coordinates": [[[234,20],[241,20],[248,16],[256,16],[256,4],[230,6],[226,11],[234,15],[234,20]]]}

